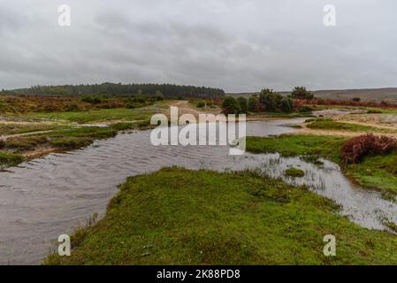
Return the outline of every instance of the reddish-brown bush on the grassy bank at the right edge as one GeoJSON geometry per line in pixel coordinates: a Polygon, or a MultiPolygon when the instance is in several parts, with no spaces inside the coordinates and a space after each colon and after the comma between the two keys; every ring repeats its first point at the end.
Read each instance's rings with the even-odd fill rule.
{"type": "Polygon", "coordinates": [[[345,142],[340,148],[340,157],[346,164],[357,164],[363,157],[386,155],[397,149],[397,140],[386,135],[363,134],[345,142]]]}

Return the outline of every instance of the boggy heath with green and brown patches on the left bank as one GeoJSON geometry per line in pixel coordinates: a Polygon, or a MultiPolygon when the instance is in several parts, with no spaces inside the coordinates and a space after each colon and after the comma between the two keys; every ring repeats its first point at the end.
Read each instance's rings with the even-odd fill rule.
{"type": "Polygon", "coordinates": [[[0,169],[80,149],[118,131],[145,129],[168,101],[128,97],[0,97],[0,169]],[[116,108],[115,108],[116,107],[116,108]]]}

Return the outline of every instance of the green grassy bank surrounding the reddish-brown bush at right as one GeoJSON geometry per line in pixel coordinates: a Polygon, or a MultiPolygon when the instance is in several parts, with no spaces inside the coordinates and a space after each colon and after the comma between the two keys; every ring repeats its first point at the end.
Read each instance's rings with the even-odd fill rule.
{"type": "MultiPolygon", "coordinates": [[[[346,137],[320,135],[281,135],[279,137],[248,137],[251,152],[279,152],[283,156],[325,157],[343,165],[344,172],[363,187],[376,188],[386,196],[397,195],[397,150],[386,157],[365,157],[361,164],[341,164],[340,146],[346,137]]],[[[315,160],[316,158],[313,158],[315,160]]]]}

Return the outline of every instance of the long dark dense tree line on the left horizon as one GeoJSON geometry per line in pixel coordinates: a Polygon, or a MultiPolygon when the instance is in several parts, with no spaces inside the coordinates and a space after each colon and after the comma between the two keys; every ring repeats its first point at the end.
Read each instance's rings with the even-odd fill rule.
{"type": "Polygon", "coordinates": [[[225,91],[220,88],[205,88],[194,86],[179,86],[174,84],[121,84],[105,82],[93,85],[65,85],[65,86],[34,86],[32,88],[13,91],[20,95],[32,96],[158,96],[165,98],[223,98],[225,91]]]}

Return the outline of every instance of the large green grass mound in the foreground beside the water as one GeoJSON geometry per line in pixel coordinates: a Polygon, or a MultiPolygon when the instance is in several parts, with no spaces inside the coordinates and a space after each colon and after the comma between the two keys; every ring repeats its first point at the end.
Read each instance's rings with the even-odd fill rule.
{"type": "Polygon", "coordinates": [[[72,256],[45,264],[396,264],[397,237],[335,213],[305,187],[250,172],[165,168],[128,178],[72,256]],[[324,235],[337,239],[324,256],[324,235]]]}

